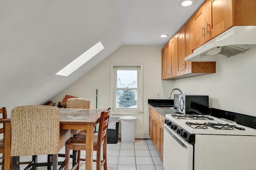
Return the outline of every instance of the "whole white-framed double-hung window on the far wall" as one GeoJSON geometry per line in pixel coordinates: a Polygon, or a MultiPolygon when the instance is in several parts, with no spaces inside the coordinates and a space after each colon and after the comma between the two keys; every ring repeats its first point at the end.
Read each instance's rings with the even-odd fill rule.
{"type": "Polygon", "coordinates": [[[142,111],[142,64],[112,64],[113,111],[142,111]]]}

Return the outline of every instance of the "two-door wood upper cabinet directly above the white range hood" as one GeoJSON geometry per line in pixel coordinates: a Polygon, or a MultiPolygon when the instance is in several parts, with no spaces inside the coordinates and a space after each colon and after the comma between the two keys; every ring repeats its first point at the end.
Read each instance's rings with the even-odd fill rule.
{"type": "Polygon", "coordinates": [[[234,25],[256,25],[256,0],[206,0],[191,18],[192,50],[234,25]]]}

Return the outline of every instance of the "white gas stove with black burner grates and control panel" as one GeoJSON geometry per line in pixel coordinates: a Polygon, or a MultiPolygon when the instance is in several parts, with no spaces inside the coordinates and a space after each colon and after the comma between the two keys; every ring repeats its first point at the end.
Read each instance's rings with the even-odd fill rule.
{"type": "Polygon", "coordinates": [[[210,115],[166,114],[165,170],[255,170],[256,129],[210,115]]]}

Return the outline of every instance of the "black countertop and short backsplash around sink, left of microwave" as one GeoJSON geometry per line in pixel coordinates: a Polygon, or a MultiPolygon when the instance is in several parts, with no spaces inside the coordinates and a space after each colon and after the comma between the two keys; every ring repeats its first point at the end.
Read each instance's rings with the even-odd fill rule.
{"type": "Polygon", "coordinates": [[[158,113],[160,113],[161,115],[165,116],[166,114],[173,114],[176,113],[177,110],[176,109],[162,109],[158,106],[170,106],[173,107],[173,100],[172,99],[148,99],[148,105],[152,106],[158,113]]]}

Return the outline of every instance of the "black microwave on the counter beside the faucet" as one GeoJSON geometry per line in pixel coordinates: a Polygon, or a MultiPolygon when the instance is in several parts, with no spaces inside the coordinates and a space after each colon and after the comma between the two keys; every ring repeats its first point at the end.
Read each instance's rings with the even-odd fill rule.
{"type": "Polygon", "coordinates": [[[209,96],[179,94],[179,112],[183,114],[209,115],[209,96]]]}

